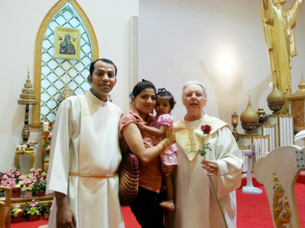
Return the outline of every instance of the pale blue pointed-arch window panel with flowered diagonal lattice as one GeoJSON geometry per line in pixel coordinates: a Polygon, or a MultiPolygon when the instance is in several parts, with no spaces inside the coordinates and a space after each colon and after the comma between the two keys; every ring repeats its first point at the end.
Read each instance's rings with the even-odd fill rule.
{"type": "Polygon", "coordinates": [[[91,86],[87,81],[92,61],[91,40],[81,16],[67,2],[53,17],[42,42],[41,67],[41,121],[53,122],[56,117],[56,99],[68,82],[73,95],[85,93],[91,86]],[[81,32],[80,59],[54,57],[55,27],[77,28],[81,32]]]}

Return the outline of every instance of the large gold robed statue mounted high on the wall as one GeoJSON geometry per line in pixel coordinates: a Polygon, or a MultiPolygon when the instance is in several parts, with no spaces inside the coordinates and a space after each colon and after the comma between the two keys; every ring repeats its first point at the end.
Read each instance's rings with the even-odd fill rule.
{"type": "MultiPolygon", "coordinates": [[[[277,83],[278,89],[285,98],[291,93],[291,58],[296,55],[292,29],[296,26],[296,17],[303,0],[296,0],[287,11],[284,11],[286,2],[287,0],[261,0],[260,2],[260,16],[273,83],[277,83]]],[[[286,100],[282,113],[287,112],[286,100]]]]}

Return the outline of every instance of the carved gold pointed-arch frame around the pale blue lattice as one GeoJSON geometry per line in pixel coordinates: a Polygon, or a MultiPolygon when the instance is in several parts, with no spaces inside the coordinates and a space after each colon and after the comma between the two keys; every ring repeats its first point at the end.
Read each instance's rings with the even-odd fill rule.
{"type": "Polygon", "coordinates": [[[38,105],[33,105],[33,111],[32,111],[32,124],[30,124],[31,127],[38,128],[40,127],[41,123],[41,117],[40,117],[40,107],[41,107],[41,61],[42,61],[42,42],[45,36],[45,32],[48,28],[49,23],[53,19],[53,17],[56,15],[56,13],[61,9],[67,2],[70,2],[74,9],[78,12],[78,14],[81,16],[81,19],[83,20],[87,30],[88,34],[90,36],[91,40],[91,48],[92,48],[92,60],[96,60],[99,58],[99,46],[97,43],[97,39],[95,36],[95,32],[93,30],[93,27],[91,25],[91,22],[88,19],[88,16],[85,14],[84,10],[81,8],[81,6],[77,3],[76,0],[59,0],[56,2],[52,8],[48,11],[48,13],[45,15],[44,19],[42,20],[35,40],[35,56],[34,56],[34,94],[38,100],[38,105]]]}

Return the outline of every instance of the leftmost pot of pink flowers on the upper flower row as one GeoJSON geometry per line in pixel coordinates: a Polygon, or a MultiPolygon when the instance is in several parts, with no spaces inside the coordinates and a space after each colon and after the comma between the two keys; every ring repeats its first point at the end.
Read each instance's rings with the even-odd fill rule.
{"type": "Polygon", "coordinates": [[[13,167],[10,172],[4,173],[1,177],[0,185],[12,188],[12,198],[20,197],[20,188],[22,185],[21,176],[21,173],[13,167]]]}

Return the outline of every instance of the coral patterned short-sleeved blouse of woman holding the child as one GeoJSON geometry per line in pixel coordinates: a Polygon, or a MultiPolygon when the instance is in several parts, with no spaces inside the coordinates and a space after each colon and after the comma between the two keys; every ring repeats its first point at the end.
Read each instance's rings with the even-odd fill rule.
{"type": "MultiPolygon", "coordinates": [[[[130,113],[126,113],[121,117],[119,122],[119,143],[123,157],[124,154],[127,153],[130,149],[124,139],[122,129],[129,123],[137,123],[137,119],[140,119],[145,125],[149,126],[153,121],[153,115],[148,114],[146,121],[144,121],[139,116],[138,110],[132,108],[130,113]]],[[[141,135],[145,148],[154,146],[154,143],[152,142],[149,133],[141,130],[141,135]]],[[[161,174],[161,162],[159,156],[154,158],[146,165],[142,165],[139,162],[139,186],[159,193],[161,188],[161,174]]]]}

